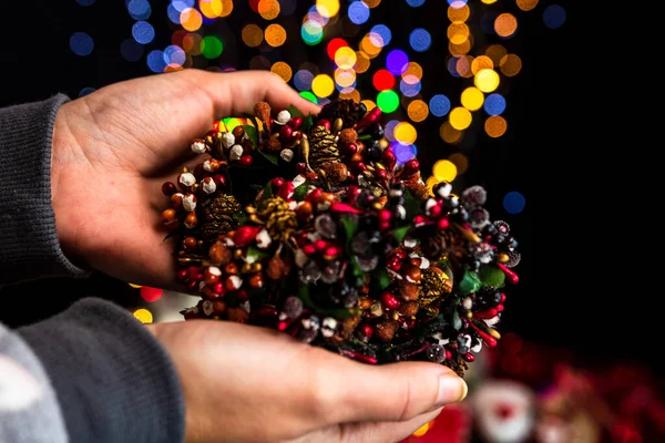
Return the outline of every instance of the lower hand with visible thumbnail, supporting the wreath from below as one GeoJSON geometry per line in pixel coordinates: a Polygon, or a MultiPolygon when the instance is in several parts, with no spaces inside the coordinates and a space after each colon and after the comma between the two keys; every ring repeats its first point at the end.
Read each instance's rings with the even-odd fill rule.
{"type": "Polygon", "coordinates": [[[187,442],[399,442],[467,394],[443,365],[374,367],[267,328],[191,320],[149,329],[180,374],[187,442]]]}

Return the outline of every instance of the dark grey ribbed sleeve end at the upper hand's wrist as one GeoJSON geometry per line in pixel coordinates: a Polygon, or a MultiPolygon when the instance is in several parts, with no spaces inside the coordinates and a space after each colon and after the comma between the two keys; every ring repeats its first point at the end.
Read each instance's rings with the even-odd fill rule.
{"type": "Polygon", "coordinates": [[[51,207],[51,143],[69,99],[0,109],[0,286],[86,272],[62,254],[51,207]]]}

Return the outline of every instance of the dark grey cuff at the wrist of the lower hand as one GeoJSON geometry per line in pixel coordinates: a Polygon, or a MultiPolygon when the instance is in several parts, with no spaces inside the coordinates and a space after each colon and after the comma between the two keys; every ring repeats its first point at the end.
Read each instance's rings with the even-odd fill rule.
{"type": "Polygon", "coordinates": [[[72,443],[183,441],[178,375],[123,309],[88,299],[19,334],[50,377],[72,443]]]}

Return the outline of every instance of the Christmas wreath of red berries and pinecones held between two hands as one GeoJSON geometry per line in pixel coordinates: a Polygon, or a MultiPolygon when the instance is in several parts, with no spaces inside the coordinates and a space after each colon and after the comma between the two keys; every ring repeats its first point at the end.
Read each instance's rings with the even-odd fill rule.
{"type": "Polygon", "coordinates": [[[520,256],[479,186],[428,189],[398,164],[378,107],[338,100],[318,116],[258,103],[217,122],[205,156],[162,192],[178,243],[183,311],[276,328],[367,363],[430,360],[460,375],[495,347],[520,256]],[[227,121],[228,122],[228,121],[227,121]]]}

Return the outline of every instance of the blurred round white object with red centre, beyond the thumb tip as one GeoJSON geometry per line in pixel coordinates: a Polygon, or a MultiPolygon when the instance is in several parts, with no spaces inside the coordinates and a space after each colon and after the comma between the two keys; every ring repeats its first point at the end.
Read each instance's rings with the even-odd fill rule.
{"type": "Polygon", "coordinates": [[[488,443],[524,442],[532,434],[534,392],[515,381],[487,381],[469,398],[473,423],[488,443]]]}

